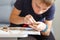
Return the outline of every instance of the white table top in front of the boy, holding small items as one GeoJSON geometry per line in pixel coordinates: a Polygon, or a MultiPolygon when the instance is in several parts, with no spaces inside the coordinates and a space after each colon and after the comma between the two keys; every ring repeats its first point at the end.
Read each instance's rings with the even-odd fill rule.
{"type": "MultiPolygon", "coordinates": [[[[27,28],[28,29],[28,28],[27,28]]],[[[38,31],[27,30],[9,30],[8,32],[0,30],[0,37],[28,37],[28,34],[40,35],[38,31]]]]}

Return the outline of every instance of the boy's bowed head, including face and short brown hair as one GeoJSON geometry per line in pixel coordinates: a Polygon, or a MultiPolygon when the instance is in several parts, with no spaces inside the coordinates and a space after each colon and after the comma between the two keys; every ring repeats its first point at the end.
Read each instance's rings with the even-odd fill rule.
{"type": "Polygon", "coordinates": [[[36,6],[40,9],[40,14],[46,12],[55,0],[36,0],[36,6]]]}

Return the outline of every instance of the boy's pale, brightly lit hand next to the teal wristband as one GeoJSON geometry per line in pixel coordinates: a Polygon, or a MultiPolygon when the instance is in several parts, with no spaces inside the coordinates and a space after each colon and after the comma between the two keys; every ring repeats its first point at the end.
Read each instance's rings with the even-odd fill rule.
{"type": "Polygon", "coordinates": [[[37,31],[42,31],[46,28],[46,24],[43,22],[36,22],[32,25],[29,25],[31,28],[37,30],[37,31]]]}

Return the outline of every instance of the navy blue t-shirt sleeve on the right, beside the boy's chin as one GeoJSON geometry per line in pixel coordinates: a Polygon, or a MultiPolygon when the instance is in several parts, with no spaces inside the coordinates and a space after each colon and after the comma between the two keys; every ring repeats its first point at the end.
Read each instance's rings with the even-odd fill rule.
{"type": "Polygon", "coordinates": [[[52,5],[51,8],[46,13],[46,20],[53,20],[55,14],[55,5],[52,5]]]}

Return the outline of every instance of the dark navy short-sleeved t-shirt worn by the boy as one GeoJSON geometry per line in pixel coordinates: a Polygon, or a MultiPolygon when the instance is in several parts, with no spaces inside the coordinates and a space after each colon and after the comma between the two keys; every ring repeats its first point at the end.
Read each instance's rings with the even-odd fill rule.
{"type": "Polygon", "coordinates": [[[45,13],[36,14],[32,8],[32,0],[17,0],[14,4],[15,8],[22,10],[19,16],[25,17],[30,14],[36,21],[52,20],[55,13],[55,5],[53,4],[45,13]]]}

